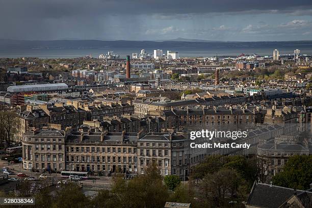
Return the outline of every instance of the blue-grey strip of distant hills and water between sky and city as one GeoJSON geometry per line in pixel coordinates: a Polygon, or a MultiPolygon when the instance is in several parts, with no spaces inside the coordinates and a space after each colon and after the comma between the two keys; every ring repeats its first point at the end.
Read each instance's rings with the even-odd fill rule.
{"type": "Polygon", "coordinates": [[[106,54],[108,50],[121,57],[139,53],[145,49],[174,50],[180,57],[238,56],[240,54],[272,55],[274,49],[280,54],[293,54],[294,49],[301,54],[312,55],[312,41],[261,41],[261,42],[191,42],[186,41],[101,41],[101,40],[55,40],[29,41],[0,39],[0,57],[76,58],[106,54]]]}

